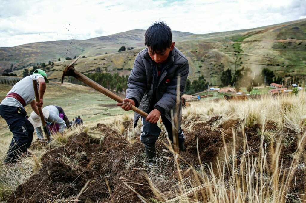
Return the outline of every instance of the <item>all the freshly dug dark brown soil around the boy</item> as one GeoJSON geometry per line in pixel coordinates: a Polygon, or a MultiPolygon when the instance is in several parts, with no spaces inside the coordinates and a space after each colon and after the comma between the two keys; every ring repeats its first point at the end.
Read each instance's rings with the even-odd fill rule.
{"type": "MultiPolygon", "coordinates": [[[[180,152],[183,159],[182,171],[186,171],[189,167],[183,164],[184,162],[191,165],[199,165],[200,162],[202,164],[215,163],[219,155],[224,155],[224,143],[226,147],[232,147],[232,129],[236,132],[237,154],[243,153],[243,135],[239,130],[240,121],[229,120],[216,127],[215,130],[211,130],[211,126],[220,119],[221,117],[213,117],[206,123],[198,123],[191,132],[185,134],[186,151],[180,152]]],[[[122,124],[125,130],[133,128],[132,121],[125,121],[122,124]]],[[[272,122],[266,127],[270,131],[276,129],[272,122]]],[[[149,199],[155,197],[147,180],[147,174],[150,173],[151,168],[146,164],[140,139],[136,138],[135,142],[131,143],[124,135],[118,134],[117,131],[104,124],[98,124],[96,128],[103,136],[101,139],[81,133],[69,137],[69,141],[64,146],[50,149],[41,158],[43,167],[27,182],[17,187],[8,202],[53,202],[57,200],[143,202],[142,198],[150,202],[149,199]],[[81,193],[83,187],[85,189],[81,193]],[[76,199],[78,195],[79,198],[76,199]]],[[[256,124],[245,129],[247,144],[252,148],[249,155],[252,157],[260,155],[259,131],[261,128],[262,126],[256,124]]],[[[167,171],[172,173],[170,177],[172,180],[179,180],[175,162],[163,158],[172,157],[173,159],[170,150],[162,143],[162,141],[167,142],[163,137],[165,136],[160,136],[156,142],[158,159],[162,160],[157,163],[156,173],[167,171]]],[[[263,145],[269,153],[268,141],[263,141],[263,145]]],[[[286,153],[293,152],[294,146],[282,151],[283,163],[292,161],[292,158],[286,153]]],[[[303,167],[298,169],[296,174],[298,176],[294,179],[296,182],[292,181],[289,188],[291,192],[304,190],[303,167]]],[[[185,176],[188,176],[188,173],[185,176]]],[[[171,185],[168,184],[167,187],[171,190],[171,185]]],[[[166,194],[167,191],[163,192],[166,194]]]]}

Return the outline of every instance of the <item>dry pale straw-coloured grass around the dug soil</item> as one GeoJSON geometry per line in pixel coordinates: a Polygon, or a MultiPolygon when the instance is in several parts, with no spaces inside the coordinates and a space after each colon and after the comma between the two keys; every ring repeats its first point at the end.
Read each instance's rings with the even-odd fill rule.
{"type": "MultiPolygon", "coordinates": [[[[243,138],[243,153],[240,156],[237,155],[235,133],[233,133],[233,143],[224,145],[225,148],[214,165],[202,163],[202,160],[199,160],[202,163],[199,166],[190,165],[173,150],[168,144],[169,141],[165,144],[172,155],[165,156],[166,151],[159,151],[159,156],[155,160],[159,165],[148,167],[145,164],[143,151],[136,151],[135,155],[126,156],[125,164],[131,165],[136,161],[144,163],[142,169],[147,173],[147,180],[155,197],[149,200],[146,199],[147,197],[140,197],[141,201],[302,202],[305,199],[301,198],[304,193],[289,194],[288,188],[294,180],[297,167],[304,167],[306,161],[304,160],[305,115],[306,94],[302,91],[297,96],[286,95],[276,98],[265,96],[247,101],[193,102],[190,107],[183,109],[182,128],[185,132],[192,132],[197,123],[207,122],[213,116],[220,116],[211,126],[213,130],[229,119],[239,119],[240,126],[237,130],[242,131],[243,135],[245,127],[257,123],[265,126],[267,122],[275,123],[277,132],[266,131],[264,127],[259,130],[261,146],[257,146],[260,149],[260,155],[256,158],[249,156],[253,148],[248,146],[246,136],[243,138]],[[288,130],[293,131],[294,135],[288,133],[288,130]],[[282,136],[277,138],[276,135],[282,136]],[[264,141],[276,143],[275,145],[270,144],[268,150],[271,165],[267,164],[267,150],[263,148],[264,141]],[[279,164],[280,153],[284,147],[292,144],[297,144],[298,150],[292,154],[291,167],[283,170],[282,164],[279,164]],[[158,167],[168,164],[172,164],[175,170],[167,171],[163,169],[164,167],[158,167]]],[[[123,121],[131,117],[116,117],[114,120],[117,121],[109,125],[132,144],[139,139],[140,129],[126,130],[122,125],[123,121]]],[[[64,136],[55,135],[49,145],[61,146],[68,141],[69,136],[81,132],[100,139],[101,143],[107,136],[99,130],[79,126],[72,131],[65,131],[64,136]]],[[[0,198],[6,198],[19,184],[37,173],[41,167],[40,158],[48,150],[48,148],[32,150],[34,156],[22,159],[18,166],[3,166],[2,161],[6,155],[9,141],[10,139],[6,139],[0,142],[0,198]]],[[[81,152],[71,152],[69,155],[63,155],[62,160],[69,166],[76,166],[82,155],[81,152]]],[[[55,197],[54,202],[69,202],[76,198],[77,196],[67,199],[55,197]]]]}

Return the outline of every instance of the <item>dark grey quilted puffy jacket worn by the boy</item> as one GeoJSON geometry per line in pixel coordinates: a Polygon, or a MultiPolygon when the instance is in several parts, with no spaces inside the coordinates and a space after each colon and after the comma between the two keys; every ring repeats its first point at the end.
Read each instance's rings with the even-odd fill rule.
{"type": "MultiPolygon", "coordinates": [[[[156,90],[156,106],[164,109],[165,116],[171,121],[171,109],[175,112],[175,104],[177,99],[177,81],[180,76],[180,95],[184,93],[186,80],[189,72],[187,58],[178,50],[174,48],[170,52],[169,59],[162,67],[160,78],[158,80],[158,73],[156,63],[148,54],[147,48],[142,50],[136,56],[134,67],[128,79],[128,89],[126,90],[125,98],[132,98],[139,108],[147,112],[150,107],[150,101],[156,90]],[[158,81],[157,81],[158,80],[158,81]],[[156,89],[157,88],[157,89],[156,89]]],[[[181,125],[181,104],[178,109],[178,126],[181,125]]],[[[149,113],[149,112],[147,112],[149,113]]],[[[134,114],[134,127],[140,115],[134,114]]]]}

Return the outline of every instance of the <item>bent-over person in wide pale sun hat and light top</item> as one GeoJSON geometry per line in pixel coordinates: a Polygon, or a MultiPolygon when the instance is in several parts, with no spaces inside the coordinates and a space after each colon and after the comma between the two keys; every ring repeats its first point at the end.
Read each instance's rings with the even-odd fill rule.
{"type": "MultiPolygon", "coordinates": [[[[47,126],[51,134],[64,134],[65,128],[67,127],[69,129],[71,127],[69,119],[65,115],[65,112],[62,107],[56,105],[48,105],[45,106],[42,110],[43,116],[45,117],[47,126]]],[[[37,138],[40,140],[44,139],[43,131],[41,129],[43,123],[41,122],[40,116],[33,111],[31,113],[29,121],[35,128],[37,138]]]]}

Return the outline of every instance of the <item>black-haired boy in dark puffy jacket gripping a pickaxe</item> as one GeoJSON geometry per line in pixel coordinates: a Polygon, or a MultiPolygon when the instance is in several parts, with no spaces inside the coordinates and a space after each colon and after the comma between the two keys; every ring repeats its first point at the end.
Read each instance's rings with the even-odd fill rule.
{"type": "MultiPolygon", "coordinates": [[[[167,136],[173,141],[174,132],[171,125],[171,109],[176,111],[177,82],[180,77],[179,98],[184,93],[188,76],[188,60],[174,47],[170,27],[158,22],[149,27],[145,33],[147,48],[136,56],[134,67],[128,79],[128,89],[122,103],[117,103],[128,111],[132,105],[139,107],[149,115],[145,119],[139,114],[134,115],[134,127],[141,117],[140,140],[144,144],[149,164],[153,164],[155,142],[160,128],[157,126],[159,117],[162,118],[167,136]]],[[[180,99],[181,101],[181,99],[180,99]]],[[[185,150],[184,134],[181,129],[181,104],[178,111],[179,148],[185,150]]]]}

